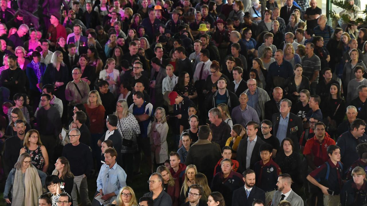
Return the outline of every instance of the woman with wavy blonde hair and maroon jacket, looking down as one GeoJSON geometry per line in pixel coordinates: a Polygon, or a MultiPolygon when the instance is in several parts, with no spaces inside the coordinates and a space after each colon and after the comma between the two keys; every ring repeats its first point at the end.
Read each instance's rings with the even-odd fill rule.
{"type": "Polygon", "coordinates": [[[178,179],[174,179],[170,170],[166,166],[159,166],[157,173],[161,174],[164,183],[164,191],[171,196],[172,206],[178,206],[178,199],[180,196],[180,184],[178,179]]]}

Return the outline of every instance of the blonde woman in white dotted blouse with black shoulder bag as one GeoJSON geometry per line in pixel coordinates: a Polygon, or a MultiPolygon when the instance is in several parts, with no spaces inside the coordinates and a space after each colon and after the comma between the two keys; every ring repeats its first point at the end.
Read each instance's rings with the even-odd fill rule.
{"type": "Polygon", "coordinates": [[[134,161],[134,153],[137,148],[137,135],[140,134],[140,127],[137,119],[129,112],[129,107],[124,99],[120,99],[116,103],[117,129],[123,138],[121,153],[121,167],[125,170],[127,177],[132,177],[132,167],[134,161]],[[128,146],[124,141],[131,142],[128,146]]]}

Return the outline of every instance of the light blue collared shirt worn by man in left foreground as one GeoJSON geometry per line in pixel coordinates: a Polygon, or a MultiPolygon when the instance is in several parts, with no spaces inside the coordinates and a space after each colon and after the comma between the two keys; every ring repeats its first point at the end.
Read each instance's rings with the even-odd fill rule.
{"type": "Polygon", "coordinates": [[[112,202],[116,199],[120,189],[126,186],[126,176],[125,171],[116,162],[112,168],[103,164],[97,177],[97,191],[102,189],[103,194],[114,192],[116,196],[110,199],[112,202]]]}

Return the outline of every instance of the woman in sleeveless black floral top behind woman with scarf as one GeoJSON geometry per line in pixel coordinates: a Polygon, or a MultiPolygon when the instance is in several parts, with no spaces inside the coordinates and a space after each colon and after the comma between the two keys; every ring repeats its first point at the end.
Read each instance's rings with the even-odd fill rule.
{"type": "Polygon", "coordinates": [[[23,140],[23,148],[19,154],[27,152],[30,154],[32,165],[38,170],[47,172],[48,169],[48,154],[46,147],[42,145],[40,133],[35,130],[29,130],[23,140]]]}

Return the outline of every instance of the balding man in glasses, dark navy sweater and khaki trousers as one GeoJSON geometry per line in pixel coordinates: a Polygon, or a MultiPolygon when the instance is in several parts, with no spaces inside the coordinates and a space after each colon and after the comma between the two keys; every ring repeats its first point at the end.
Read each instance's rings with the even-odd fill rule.
{"type": "Polygon", "coordinates": [[[62,157],[66,157],[69,160],[70,170],[74,174],[74,185],[71,192],[73,205],[78,205],[77,190],[79,191],[82,205],[91,205],[88,197],[87,175],[90,174],[93,168],[92,153],[86,144],[79,141],[79,129],[70,130],[69,138],[70,143],[64,146],[62,157]]]}

